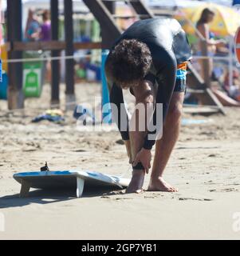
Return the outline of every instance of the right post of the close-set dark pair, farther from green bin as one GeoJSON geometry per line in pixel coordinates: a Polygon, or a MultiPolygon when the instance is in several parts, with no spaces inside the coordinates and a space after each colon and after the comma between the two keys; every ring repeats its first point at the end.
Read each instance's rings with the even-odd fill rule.
{"type": "MultiPolygon", "coordinates": [[[[74,53],[73,46],[73,0],[65,0],[65,42],[66,56],[72,56],[74,53]]],[[[66,103],[75,102],[74,94],[74,60],[65,60],[65,83],[66,83],[66,103]]],[[[72,109],[74,106],[67,106],[67,109],[72,109]]]]}

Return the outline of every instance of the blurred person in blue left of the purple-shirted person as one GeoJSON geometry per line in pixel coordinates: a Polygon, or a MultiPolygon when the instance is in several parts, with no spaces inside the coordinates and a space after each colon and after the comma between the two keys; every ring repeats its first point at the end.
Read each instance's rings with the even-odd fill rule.
{"type": "Polygon", "coordinates": [[[37,18],[35,18],[34,11],[30,9],[26,22],[25,38],[30,42],[37,41],[39,40],[40,32],[41,26],[37,21],[37,18]]]}

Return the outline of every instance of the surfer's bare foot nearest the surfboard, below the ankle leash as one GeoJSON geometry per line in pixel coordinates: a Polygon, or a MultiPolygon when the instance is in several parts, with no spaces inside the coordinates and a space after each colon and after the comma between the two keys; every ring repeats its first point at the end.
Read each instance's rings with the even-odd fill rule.
{"type": "Polygon", "coordinates": [[[132,180],[126,190],[126,193],[137,193],[140,194],[143,191],[144,186],[144,170],[133,170],[132,180]]]}

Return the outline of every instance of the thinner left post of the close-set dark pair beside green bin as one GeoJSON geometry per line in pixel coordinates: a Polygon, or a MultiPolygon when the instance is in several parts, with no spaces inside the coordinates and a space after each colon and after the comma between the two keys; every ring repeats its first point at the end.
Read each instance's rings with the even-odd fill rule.
{"type": "MultiPolygon", "coordinates": [[[[51,35],[52,40],[58,41],[58,0],[51,0],[51,35]]],[[[52,50],[52,57],[59,57],[59,50],[52,50]]],[[[60,69],[59,61],[52,60],[52,93],[51,103],[59,104],[59,82],[60,82],[60,69]]]]}

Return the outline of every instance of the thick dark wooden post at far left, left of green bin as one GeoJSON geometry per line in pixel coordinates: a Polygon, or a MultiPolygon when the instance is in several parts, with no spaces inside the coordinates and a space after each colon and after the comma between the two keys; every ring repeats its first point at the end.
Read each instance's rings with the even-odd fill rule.
{"type": "MultiPolygon", "coordinates": [[[[22,1],[7,0],[7,39],[12,46],[22,42],[22,1]]],[[[9,59],[22,58],[21,51],[10,50],[9,59]]],[[[22,93],[22,62],[9,63],[8,107],[10,110],[24,107],[22,93]]]]}

